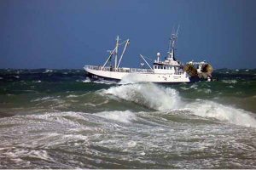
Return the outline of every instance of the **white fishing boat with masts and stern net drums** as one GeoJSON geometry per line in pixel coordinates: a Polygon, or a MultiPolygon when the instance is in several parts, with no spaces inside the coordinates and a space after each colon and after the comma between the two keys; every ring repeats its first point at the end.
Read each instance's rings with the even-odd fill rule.
{"type": "MultiPolygon", "coordinates": [[[[173,32],[173,31],[172,31],[173,32]]],[[[177,41],[177,32],[172,33],[169,42],[169,49],[164,60],[160,60],[160,53],[153,65],[149,65],[146,57],[140,54],[140,57],[148,65],[146,68],[129,68],[120,67],[121,60],[125,54],[125,50],[130,44],[127,39],[119,42],[119,36],[116,38],[115,48],[109,50],[108,59],[103,65],[84,65],[87,77],[90,80],[108,80],[114,82],[130,81],[130,82],[159,82],[159,83],[177,83],[177,82],[197,82],[202,78],[208,81],[212,79],[212,66],[206,61],[194,62],[190,61],[183,65],[175,58],[175,42],[177,41]],[[118,56],[119,46],[125,45],[120,56],[118,56]]],[[[141,63],[142,67],[144,63],[141,63]]]]}

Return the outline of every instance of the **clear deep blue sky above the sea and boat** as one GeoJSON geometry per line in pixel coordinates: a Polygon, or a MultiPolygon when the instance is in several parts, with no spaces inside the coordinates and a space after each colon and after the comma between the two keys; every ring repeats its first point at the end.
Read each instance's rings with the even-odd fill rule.
{"type": "Polygon", "coordinates": [[[103,65],[117,35],[139,54],[166,56],[180,26],[176,58],[219,68],[256,68],[255,0],[1,0],[0,68],[82,69],[103,65]]]}

